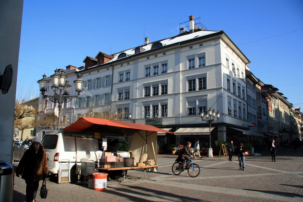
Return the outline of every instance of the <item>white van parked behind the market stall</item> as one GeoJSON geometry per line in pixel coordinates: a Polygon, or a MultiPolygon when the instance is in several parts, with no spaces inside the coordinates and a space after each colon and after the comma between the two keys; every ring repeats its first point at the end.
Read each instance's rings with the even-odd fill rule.
{"type": "Polygon", "coordinates": [[[42,144],[47,155],[48,173],[57,175],[59,162],[70,162],[71,182],[77,182],[81,172],[81,159],[96,160],[98,139],[93,137],[92,133],[79,131],[45,132],[42,144]]]}

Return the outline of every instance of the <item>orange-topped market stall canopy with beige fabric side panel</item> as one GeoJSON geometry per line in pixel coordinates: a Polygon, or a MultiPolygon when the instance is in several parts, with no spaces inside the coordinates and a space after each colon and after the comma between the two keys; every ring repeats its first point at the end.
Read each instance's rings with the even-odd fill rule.
{"type": "Polygon", "coordinates": [[[171,133],[146,124],[88,117],[79,118],[63,130],[96,132],[100,133],[100,136],[126,135],[128,137],[128,151],[136,151],[137,160],[142,153],[145,153],[148,154],[148,159],[155,159],[155,162],[157,162],[157,132],[171,133]]]}

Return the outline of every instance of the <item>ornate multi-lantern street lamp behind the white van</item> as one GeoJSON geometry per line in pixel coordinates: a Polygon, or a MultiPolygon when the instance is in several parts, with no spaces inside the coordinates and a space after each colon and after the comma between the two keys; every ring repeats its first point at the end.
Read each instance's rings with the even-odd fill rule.
{"type": "Polygon", "coordinates": [[[74,81],[75,91],[78,92],[78,95],[69,95],[69,90],[72,87],[68,84],[67,76],[64,72],[58,74],[58,70],[55,70],[55,74],[51,76],[52,78],[52,90],[54,91],[54,95],[45,95],[45,91],[47,91],[47,87],[49,81],[46,79],[46,75],[43,75],[43,78],[38,81],[40,86],[40,91],[42,94],[42,98],[48,98],[50,101],[54,103],[58,103],[58,128],[60,127],[60,116],[61,116],[61,108],[62,103],[67,103],[71,101],[73,98],[78,99],[78,96],[82,92],[84,81],[81,79],[81,76],[78,75],[78,78],[74,81]],[[59,89],[59,94],[56,91],[59,89]]]}

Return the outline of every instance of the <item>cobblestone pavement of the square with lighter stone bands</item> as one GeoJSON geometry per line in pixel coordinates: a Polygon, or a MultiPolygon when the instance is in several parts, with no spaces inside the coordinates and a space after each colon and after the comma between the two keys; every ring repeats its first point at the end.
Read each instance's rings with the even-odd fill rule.
{"type": "MultiPolygon", "coordinates": [[[[103,191],[47,181],[47,198],[37,195],[36,201],[303,201],[302,147],[279,148],[276,162],[271,162],[268,151],[260,154],[245,158],[245,171],[238,170],[236,156],[232,161],[222,156],[196,159],[201,172],[195,178],[186,171],[172,174],[176,155],[158,155],[158,172],[148,172],[152,180],[135,180],[142,171],[128,171],[126,182],[108,182],[103,191]]],[[[13,201],[25,201],[25,181],[19,177],[13,201]]]]}

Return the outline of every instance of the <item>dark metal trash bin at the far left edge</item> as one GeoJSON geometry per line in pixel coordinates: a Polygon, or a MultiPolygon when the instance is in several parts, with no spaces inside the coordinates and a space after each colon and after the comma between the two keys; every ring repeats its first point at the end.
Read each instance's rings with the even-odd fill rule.
{"type": "Polygon", "coordinates": [[[14,190],[14,165],[0,161],[0,201],[12,201],[14,190]]]}

